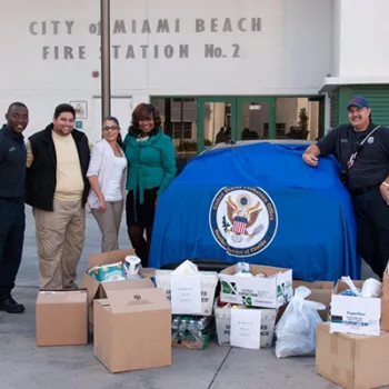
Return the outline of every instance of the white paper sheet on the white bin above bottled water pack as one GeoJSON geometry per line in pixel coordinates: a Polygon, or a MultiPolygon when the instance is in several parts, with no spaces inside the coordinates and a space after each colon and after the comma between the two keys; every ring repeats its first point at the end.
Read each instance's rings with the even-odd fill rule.
{"type": "Polygon", "coordinates": [[[200,276],[171,275],[170,287],[172,313],[201,312],[200,276]]]}

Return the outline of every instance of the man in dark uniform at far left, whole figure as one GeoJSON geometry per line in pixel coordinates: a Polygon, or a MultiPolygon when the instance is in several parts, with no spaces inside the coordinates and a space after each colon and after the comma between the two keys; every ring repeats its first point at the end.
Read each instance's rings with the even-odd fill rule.
{"type": "Polygon", "coordinates": [[[24,180],[27,151],[24,131],[29,112],[13,102],[0,130],[0,310],[21,313],[24,307],[11,297],[24,240],[24,180]]]}

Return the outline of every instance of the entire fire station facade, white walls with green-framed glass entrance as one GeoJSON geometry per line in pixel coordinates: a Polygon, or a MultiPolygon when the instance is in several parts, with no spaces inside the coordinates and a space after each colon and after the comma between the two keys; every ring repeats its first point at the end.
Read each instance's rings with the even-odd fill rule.
{"type": "MultiPolygon", "coordinates": [[[[229,138],[316,139],[347,120],[353,94],[389,124],[387,14],[386,0],[111,0],[111,113],[126,133],[131,110],[153,102],[188,153],[229,138]]],[[[26,102],[27,134],[71,102],[100,139],[99,18],[99,0],[17,0],[0,14],[0,109],[26,102]]]]}

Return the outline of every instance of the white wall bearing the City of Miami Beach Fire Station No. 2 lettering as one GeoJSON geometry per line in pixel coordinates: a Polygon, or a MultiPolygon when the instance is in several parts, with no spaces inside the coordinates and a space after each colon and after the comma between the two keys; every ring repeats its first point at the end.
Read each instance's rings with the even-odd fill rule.
{"type": "MultiPolygon", "coordinates": [[[[92,72],[100,71],[100,37],[93,28],[99,4],[7,3],[7,12],[0,13],[0,112],[22,100],[30,107],[30,131],[36,131],[51,121],[58,103],[86,101],[90,114],[83,128],[96,131],[93,97],[101,92],[100,78],[92,72]],[[71,48],[73,59],[64,59],[70,50],[64,47],[71,48]]],[[[130,97],[133,107],[150,96],[313,94],[330,71],[331,0],[111,0],[111,18],[112,96],[130,97]],[[157,33],[164,19],[170,32],[157,33]],[[197,19],[205,21],[203,32],[196,31],[197,19]],[[257,19],[260,31],[252,31],[257,19]],[[113,31],[116,20],[124,22],[126,33],[113,31]],[[149,21],[150,33],[141,32],[143,20],[149,21]],[[225,23],[232,32],[222,31],[225,23]],[[143,44],[152,48],[148,58],[142,58],[143,44]],[[186,52],[180,58],[180,44],[188,58],[186,52]],[[222,48],[221,58],[206,58],[207,44],[222,48]],[[126,59],[129,46],[136,58],[126,59]],[[153,58],[154,46],[159,58],[153,58]],[[174,50],[170,59],[163,56],[167,46],[174,50]]]]}

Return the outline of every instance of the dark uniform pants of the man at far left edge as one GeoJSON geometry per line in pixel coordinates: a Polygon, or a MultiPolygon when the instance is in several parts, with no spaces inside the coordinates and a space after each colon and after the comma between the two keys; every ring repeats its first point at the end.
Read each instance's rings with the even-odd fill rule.
{"type": "Polygon", "coordinates": [[[26,229],[22,199],[0,199],[0,300],[11,296],[21,256],[26,229]]]}

